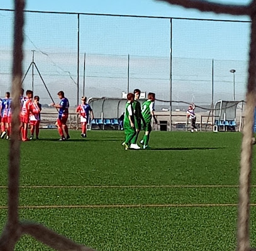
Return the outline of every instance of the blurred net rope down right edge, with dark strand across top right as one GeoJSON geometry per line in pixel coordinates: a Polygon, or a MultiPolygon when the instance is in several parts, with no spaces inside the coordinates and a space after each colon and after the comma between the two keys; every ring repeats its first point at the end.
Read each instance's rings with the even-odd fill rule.
{"type": "Polygon", "coordinates": [[[242,151],[240,159],[239,201],[237,220],[237,251],[256,250],[250,248],[250,186],[252,172],[252,137],[253,117],[256,104],[256,0],[248,6],[228,6],[199,0],[156,0],[169,4],[179,4],[186,8],[196,8],[214,13],[248,15],[252,20],[250,62],[247,83],[247,107],[245,109],[245,125],[243,129],[242,151]]]}

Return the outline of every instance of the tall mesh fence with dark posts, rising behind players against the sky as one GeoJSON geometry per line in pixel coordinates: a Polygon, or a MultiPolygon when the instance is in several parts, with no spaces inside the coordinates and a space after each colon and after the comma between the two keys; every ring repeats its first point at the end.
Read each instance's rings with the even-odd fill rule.
{"type": "MultiPolygon", "coordinates": [[[[13,14],[0,9],[0,97],[11,84],[13,14]]],[[[52,102],[49,93],[57,101],[59,90],[75,106],[84,94],[120,98],[134,88],[155,92],[162,100],[157,109],[244,99],[250,22],[35,11],[25,16],[23,85],[42,104],[52,102]]]]}

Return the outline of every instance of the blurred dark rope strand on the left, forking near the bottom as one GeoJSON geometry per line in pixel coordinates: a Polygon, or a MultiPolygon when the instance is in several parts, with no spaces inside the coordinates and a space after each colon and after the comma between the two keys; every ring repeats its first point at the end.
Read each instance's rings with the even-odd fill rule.
{"type": "Polygon", "coordinates": [[[14,0],[14,45],[13,45],[13,132],[9,146],[9,172],[8,172],[8,222],[0,237],[0,250],[13,251],[16,243],[22,235],[29,234],[56,250],[81,250],[92,251],[64,236],[49,230],[38,223],[19,222],[19,164],[20,164],[20,141],[19,141],[19,111],[20,90],[22,87],[22,61],[23,61],[23,27],[25,0],[14,0]]]}

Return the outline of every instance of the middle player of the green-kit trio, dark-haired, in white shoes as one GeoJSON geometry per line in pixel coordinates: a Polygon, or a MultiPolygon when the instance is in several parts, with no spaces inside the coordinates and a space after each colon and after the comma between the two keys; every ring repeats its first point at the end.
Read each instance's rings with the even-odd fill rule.
{"type": "Polygon", "coordinates": [[[136,144],[136,141],[138,139],[138,134],[140,133],[140,130],[142,129],[142,122],[145,127],[145,120],[143,119],[142,116],[142,107],[140,106],[140,102],[138,101],[140,99],[140,90],[135,89],[133,91],[134,93],[134,101],[133,101],[133,110],[134,110],[134,122],[135,122],[135,129],[136,129],[136,134],[135,136],[131,139],[131,149],[140,149],[140,146],[136,144]]]}

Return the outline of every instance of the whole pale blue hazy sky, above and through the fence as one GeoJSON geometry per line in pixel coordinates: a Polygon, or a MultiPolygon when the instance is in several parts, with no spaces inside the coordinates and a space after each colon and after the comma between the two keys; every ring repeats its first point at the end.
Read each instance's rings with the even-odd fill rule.
{"type": "MultiPolygon", "coordinates": [[[[250,3],[248,0],[212,2],[250,3]]],[[[0,0],[0,9],[13,9],[13,1],[0,0]]],[[[247,16],[202,13],[153,0],[28,0],[26,10],[249,20],[247,16]]],[[[12,19],[13,13],[0,12],[1,31],[4,34],[0,40],[0,58],[6,59],[0,60],[0,96],[3,95],[11,77],[11,53],[6,51],[10,51],[12,45],[12,19]],[[6,61],[9,61],[9,64],[6,61]]],[[[236,86],[236,94],[237,98],[242,100],[247,79],[244,61],[248,60],[250,24],[174,19],[172,26],[172,100],[211,100],[213,59],[216,85],[214,88],[219,92],[215,95],[216,99],[220,95],[225,95],[226,99],[232,98],[233,76],[230,69],[234,68],[236,85],[239,85],[236,86]]],[[[26,13],[24,70],[31,63],[31,50],[35,50],[36,64],[50,92],[57,92],[59,82],[63,81],[67,83],[65,90],[72,90],[73,102],[77,93],[76,39],[77,15],[26,13]]],[[[140,83],[142,91],[148,92],[157,83],[159,99],[169,100],[170,19],[81,15],[80,40],[82,55],[79,83],[82,85],[83,82],[82,63],[86,52],[86,92],[89,97],[119,97],[122,91],[127,90],[127,65],[130,54],[130,88],[135,88],[140,83]],[[106,85],[113,85],[116,93],[113,94],[113,89],[106,88],[106,85]]],[[[26,82],[29,87],[30,74],[25,84],[26,82]]],[[[35,85],[42,86],[39,78],[35,85]]],[[[82,86],[80,92],[81,90],[82,86]]],[[[48,97],[47,93],[40,95],[48,97]]]]}

